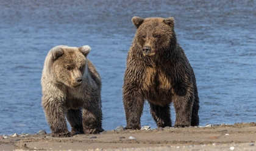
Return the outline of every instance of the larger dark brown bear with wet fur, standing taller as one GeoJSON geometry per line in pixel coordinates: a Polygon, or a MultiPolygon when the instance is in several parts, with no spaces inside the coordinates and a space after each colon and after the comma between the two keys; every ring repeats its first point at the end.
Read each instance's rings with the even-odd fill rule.
{"type": "Polygon", "coordinates": [[[141,128],[145,100],[157,127],[171,127],[171,103],[176,111],[175,127],[199,125],[196,78],[177,43],[174,18],[134,16],[132,23],[137,33],[127,55],[124,74],[126,128],[141,128]]]}

